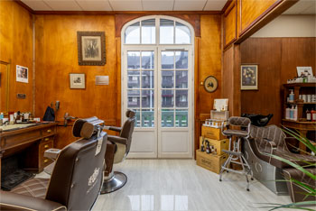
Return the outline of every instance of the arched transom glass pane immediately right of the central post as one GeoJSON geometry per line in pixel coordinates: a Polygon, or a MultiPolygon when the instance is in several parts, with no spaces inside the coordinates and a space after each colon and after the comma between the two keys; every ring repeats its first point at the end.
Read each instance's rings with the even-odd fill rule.
{"type": "Polygon", "coordinates": [[[173,21],[160,19],[160,43],[161,44],[173,44],[173,21]]]}

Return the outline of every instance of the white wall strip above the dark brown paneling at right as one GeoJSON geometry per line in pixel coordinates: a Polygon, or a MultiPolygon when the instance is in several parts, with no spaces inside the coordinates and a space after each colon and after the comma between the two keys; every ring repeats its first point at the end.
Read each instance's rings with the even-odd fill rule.
{"type": "Polygon", "coordinates": [[[316,15],[280,15],[251,37],[316,37],[316,15]]]}

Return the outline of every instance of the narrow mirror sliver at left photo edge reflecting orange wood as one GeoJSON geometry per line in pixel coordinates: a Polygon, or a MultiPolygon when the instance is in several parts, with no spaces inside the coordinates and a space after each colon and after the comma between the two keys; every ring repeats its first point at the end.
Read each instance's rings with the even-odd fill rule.
{"type": "Polygon", "coordinates": [[[9,107],[10,63],[0,60],[0,112],[7,113],[9,107]]]}

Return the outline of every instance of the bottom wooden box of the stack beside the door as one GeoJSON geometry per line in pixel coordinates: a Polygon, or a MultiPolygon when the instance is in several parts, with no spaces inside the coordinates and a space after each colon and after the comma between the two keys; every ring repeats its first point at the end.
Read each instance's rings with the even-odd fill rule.
{"type": "Polygon", "coordinates": [[[218,156],[207,154],[206,152],[201,152],[200,150],[197,150],[196,153],[197,165],[217,174],[219,174],[220,168],[224,162],[228,160],[228,154],[218,156]]]}

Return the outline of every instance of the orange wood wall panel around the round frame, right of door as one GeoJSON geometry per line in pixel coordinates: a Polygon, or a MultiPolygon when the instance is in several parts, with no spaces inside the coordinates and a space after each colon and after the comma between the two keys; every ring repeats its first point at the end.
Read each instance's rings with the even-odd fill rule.
{"type": "Polygon", "coordinates": [[[195,138],[194,149],[200,145],[200,127],[209,118],[215,98],[220,98],[221,79],[221,15],[200,16],[201,36],[195,41],[195,138]],[[204,79],[214,76],[218,89],[208,93],[203,87],[204,79]]]}

